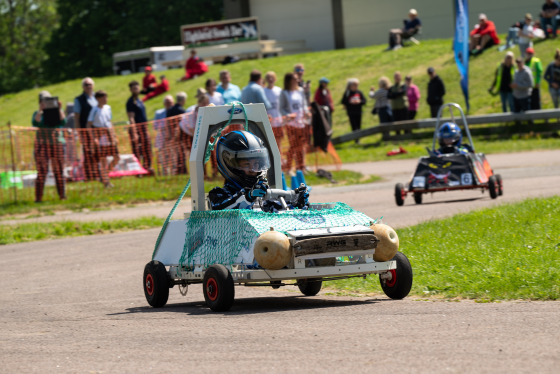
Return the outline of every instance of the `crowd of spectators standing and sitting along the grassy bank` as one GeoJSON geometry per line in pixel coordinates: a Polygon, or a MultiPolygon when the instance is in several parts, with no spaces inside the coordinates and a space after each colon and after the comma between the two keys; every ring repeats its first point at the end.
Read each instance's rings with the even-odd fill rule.
{"type": "MultiPolygon", "coordinates": [[[[504,112],[521,112],[541,108],[540,85],[542,80],[548,82],[549,94],[555,108],[560,101],[560,50],[556,51],[554,61],[543,69],[541,60],[535,55],[533,44],[538,39],[555,38],[557,35],[557,16],[560,6],[554,0],[546,0],[541,8],[539,21],[533,22],[531,14],[526,14],[523,21],[516,22],[508,32],[506,44],[499,47],[505,51],[514,45],[519,46],[520,56],[515,57],[507,51],[504,60],[499,62],[494,71],[494,79],[489,87],[492,95],[499,95],[504,112]]],[[[485,14],[480,14],[478,24],[470,33],[470,53],[473,56],[483,53],[500,43],[494,23],[485,14]]],[[[411,9],[402,28],[391,29],[387,50],[401,48],[407,40],[421,32],[422,23],[418,11],[411,9]]],[[[197,56],[195,50],[185,65],[185,75],[181,80],[188,80],[207,74],[208,66],[197,56]]],[[[324,139],[311,141],[312,129],[319,119],[320,127],[330,129],[334,101],[329,90],[329,79],[318,81],[314,95],[311,95],[311,81],[305,80],[303,64],[296,64],[293,71],[278,78],[273,71],[264,77],[258,70],[250,72],[248,84],[241,89],[232,83],[228,70],[219,72],[218,81],[213,78],[205,80],[204,87],[196,91],[196,104],[186,107],[187,94],[178,92],[175,97],[166,95],[162,108],[155,112],[153,129],[156,132],[154,143],[149,129],[149,118],[144,105],[150,100],[169,91],[169,81],[164,75],[159,83],[152,73],[151,66],[144,69],[142,82],[131,81],[128,85],[130,98],[125,108],[128,119],[128,137],[135,158],[148,175],[154,174],[154,155],[157,152],[158,170],[162,175],[186,174],[187,160],[194,134],[196,116],[200,107],[209,105],[227,105],[240,101],[242,103],[262,103],[268,113],[274,136],[280,145],[287,142],[287,150],[282,154],[282,168],[285,171],[306,171],[306,153],[317,144],[325,144],[324,139]],[[278,83],[280,79],[280,84],[278,83]],[[144,95],[143,97],[140,97],[144,95]],[[313,100],[311,100],[313,98],[313,100]]],[[[425,102],[432,117],[436,117],[444,103],[445,84],[433,67],[427,69],[428,84],[425,102]]],[[[416,118],[422,102],[420,88],[413,83],[414,77],[403,78],[401,72],[393,74],[393,81],[380,77],[377,87],[371,86],[368,97],[374,100],[372,114],[379,117],[380,123],[390,123],[416,118]]],[[[352,131],[358,131],[362,125],[362,113],[367,104],[366,95],[360,90],[357,78],[347,80],[341,97],[341,104],[348,116],[352,131]]],[[[108,105],[108,93],[94,90],[94,81],[87,77],[82,81],[82,93],[74,100],[73,120],[78,130],[82,146],[84,180],[97,180],[106,188],[111,188],[108,173],[120,159],[119,144],[112,125],[112,108],[108,105]],[[110,161],[110,162],[109,162],[110,161]]],[[[64,160],[64,138],[56,135],[56,129],[64,127],[67,118],[60,103],[53,101],[50,93],[43,91],[39,95],[39,109],[32,116],[32,124],[39,130],[36,135],[34,156],[38,176],[36,181],[36,201],[42,201],[43,187],[48,171],[49,161],[55,176],[59,197],[64,199],[64,179],[62,176],[64,160]],[[50,106],[49,106],[50,105],[50,106]],[[54,111],[53,111],[54,109],[54,111]]],[[[234,130],[230,126],[226,131],[234,130]]],[[[324,131],[324,137],[329,131],[324,131]]],[[[326,136],[328,137],[328,136],[326,136]]],[[[358,141],[356,141],[358,142],[358,141]]],[[[328,143],[328,139],[327,139],[328,143]]],[[[325,149],[324,146],[321,148],[325,149]]],[[[212,156],[212,175],[216,175],[217,161],[212,156]]]]}

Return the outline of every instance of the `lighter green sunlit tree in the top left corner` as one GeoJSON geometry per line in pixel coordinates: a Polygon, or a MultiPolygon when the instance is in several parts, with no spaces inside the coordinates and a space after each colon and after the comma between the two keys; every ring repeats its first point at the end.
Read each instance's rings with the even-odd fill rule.
{"type": "Polygon", "coordinates": [[[0,95],[46,81],[44,47],[56,22],[55,0],[0,0],[0,95]]]}

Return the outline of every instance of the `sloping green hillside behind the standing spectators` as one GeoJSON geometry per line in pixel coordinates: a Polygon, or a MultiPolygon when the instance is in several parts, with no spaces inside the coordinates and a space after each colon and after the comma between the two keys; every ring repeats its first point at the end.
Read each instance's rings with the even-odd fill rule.
{"type": "MultiPolygon", "coordinates": [[[[541,57],[545,67],[552,61],[557,46],[558,43],[555,41],[545,41],[536,45],[536,55],[541,57]]],[[[384,48],[384,45],[378,45],[242,61],[229,65],[227,68],[232,73],[233,83],[241,87],[247,83],[251,69],[255,68],[260,69],[263,73],[269,70],[276,71],[279,77],[279,85],[281,85],[284,73],[291,71],[294,63],[297,62],[305,64],[305,78],[313,82],[312,89],[317,87],[317,81],[320,77],[328,77],[331,80],[331,91],[336,102],[334,116],[336,134],[349,130],[346,115],[339,102],[346,79],[350,77],[359,78],[361,81],[360,88],[367,94],[371,85],[377,87],[377,81],[381,76],[385,75],[392,78],[393,73],[397,70],[405,75],[412,75],[414,83],[420,87],[423,95],[418,116],[419,118],[425,118],[429,116],[429,108],[425,104],[428,81],[426,69],[433,66],[446,84],[448,91],[445,97],[446,101],[464,103],[458,83],[459,74],[451,50],[451,40],[426,40],[422,41],[419,46],[411,46],[391,52],[384,52],[384,48]]],[[[516,54],[519,53],[517,47],[512,51],[516,54]]],[[[503,55],[503,52],[498,52],[497,49],[493,48],[482,56],[471,59],[471,114],[493,113],[501,110],[499,97],[491,96],[487,89],[493,79],[495,67],[502,60],[503,55]]],[[[64,68],[64,63],[61,63],[61,68],[64,68]]],[[[177,82],[184,72],[182,69],[168,70],[165,74],[171,83],[170,93],[175,94],[178,91],[185,91],[189,95],[187,104],[194,104],[196,88],[203,86],[205,79],[208,77],[217,79],[218,72],[223,68],[222,65],[211,66],[207,75],[188,82],[177,82]]],[[[141,77],[142,74],[94,77],[96,89],[103,89],[109,93],[109,105],[113,108],[114,121],[126,120],[124,106],[129,96],[127,83],[132,79],[140,80],[141,77]]],[[[0,125],[4,126],[8,121],[11,121],[14,125],[30,125],[31,115],[38,105],[37,94],[42,89],[59,96],[63,103],[72,101],[81,91],[80,80],[73,80],[0,97],[0,125]]],[[[544,108],[552,107],[546,82],[542,86],[542,99],[544,108]]],[[[161,101],[162,98],[158,97],[147,102],[150,118],[153,117],[155,110],[162,106],[161,101]]],[[[363,123],[365,127],[377,123],[377,116],[374,117],[369,114],[372,106],[373,102],[370,100],[365,109],[363,123]]]]}

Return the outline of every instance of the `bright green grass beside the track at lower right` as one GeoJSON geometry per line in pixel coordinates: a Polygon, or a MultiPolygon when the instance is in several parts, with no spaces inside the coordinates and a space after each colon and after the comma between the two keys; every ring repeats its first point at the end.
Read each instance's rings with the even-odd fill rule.
{"type": "MultiPolygon", "coordinates": [[[[412,295],[477,300],[560,299],[560,197],[479,210],[398,231],[412,295]]],[[[378,276],[329,282],[380,293],[378,276]]]]}

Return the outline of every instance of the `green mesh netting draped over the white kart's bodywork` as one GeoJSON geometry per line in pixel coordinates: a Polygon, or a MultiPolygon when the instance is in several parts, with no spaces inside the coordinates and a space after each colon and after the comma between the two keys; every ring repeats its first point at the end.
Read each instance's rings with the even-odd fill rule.
{"type": "Polygon", "coordinates": [[[192,212],[179,264],[186,267],[212,264],[252,264],[253,243],[265,231],[364,225],[375,222],[344,203],[325,204],[320,210],[265,213],[249,209],[192,212]]]}

